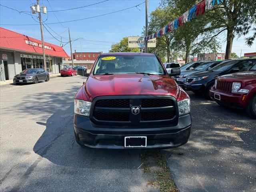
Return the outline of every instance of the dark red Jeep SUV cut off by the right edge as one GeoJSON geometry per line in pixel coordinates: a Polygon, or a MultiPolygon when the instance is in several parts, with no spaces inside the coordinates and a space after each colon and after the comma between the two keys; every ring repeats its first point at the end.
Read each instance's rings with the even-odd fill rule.
{"type": "Polygon", "coordinates": [[[249,71],[216,77],[210,96],[220,105],[246,109],[256,118],[256,64],[249,71]]]}

